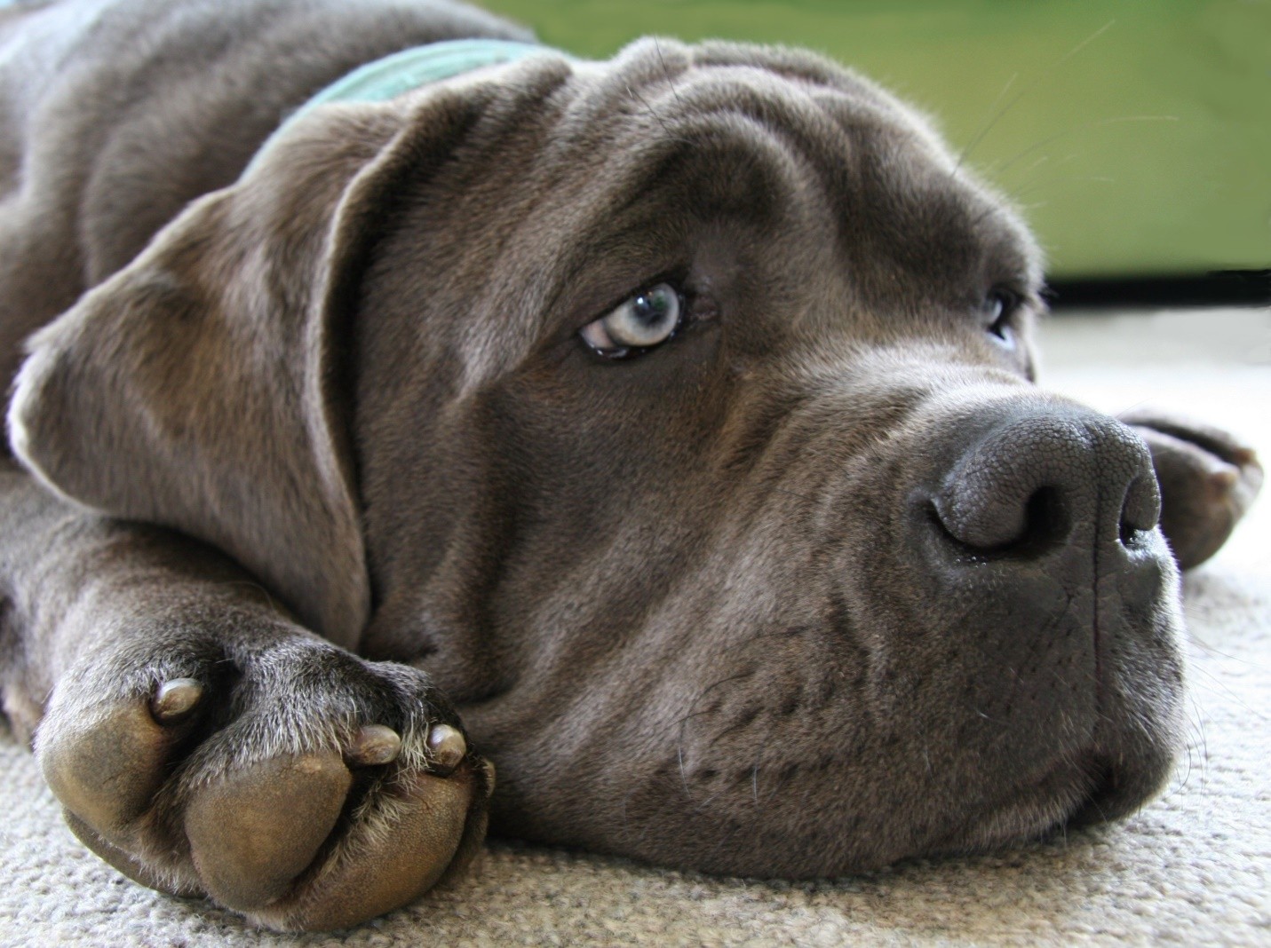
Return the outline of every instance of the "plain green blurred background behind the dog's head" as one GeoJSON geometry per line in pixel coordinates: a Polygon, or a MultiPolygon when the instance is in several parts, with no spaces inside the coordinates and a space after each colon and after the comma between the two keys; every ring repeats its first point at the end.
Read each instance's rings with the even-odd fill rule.
{"type": "Polygon", "coordinates": [[[1271,0],[478,0],[606,57],[642,34],[824,52],[928,111],[1052,278],[1271,266],[1271,0]]]}

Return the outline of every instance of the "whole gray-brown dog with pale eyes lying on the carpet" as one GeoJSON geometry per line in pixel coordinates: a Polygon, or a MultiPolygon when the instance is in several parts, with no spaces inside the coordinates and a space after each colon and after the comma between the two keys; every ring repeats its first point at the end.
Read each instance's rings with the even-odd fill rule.
{"type": "Polygon", "coordinates": [[[1035,388],[1023,226],[806,53],[530,51],[276,131],[456,38],[529,39],[0,13],[0,687],[84,843],[310,929],[487,813],[808,877],[1158,792],[1176,559],[1252,452],[1035,388]]]}

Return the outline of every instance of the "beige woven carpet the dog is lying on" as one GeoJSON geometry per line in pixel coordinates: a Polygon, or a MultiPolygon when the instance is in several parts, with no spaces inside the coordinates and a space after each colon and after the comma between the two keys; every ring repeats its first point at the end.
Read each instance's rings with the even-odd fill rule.
{"type": "MultiPolygon", "coordinates": [[[[1271,457],[1271,313],[1064,316],[1054,388],[1225,419],[1271,457]]],[[[245,929],[80,848],[24,748],[0,736],[3,945],[1271,945],[1271,496],[1187,579],[1192,728],[1162,799],[1012,853],[817,883],[758,883],[493,843],[455,890],[343,937],[245,929]]]]}

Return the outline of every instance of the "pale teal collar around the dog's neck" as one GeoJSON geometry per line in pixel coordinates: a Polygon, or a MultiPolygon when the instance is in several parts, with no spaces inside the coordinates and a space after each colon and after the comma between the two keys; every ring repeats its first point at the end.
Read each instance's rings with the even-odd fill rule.
{"type": "MultiPolygon", "coordinates": [[[[0,0],[0,5],[3,3],[4,0],[0,0]]],[[[292,122],[309,114],[319,105],[332,102],[386,102],[430,83],[440,83],[442,79],[451,79],[482,66],[515,62],[539,52],[554,51],[544,46],[517,43],[508,39],[445,39],[440,43],[414,46],[381,60],[367,62],[342,79],[337,79],[287,116],[255,152],[252,165],[259,161],[261,155],[286,132],[292,122]]],[[[249,170],[252,165],[248,166],[249,170]]]]}

